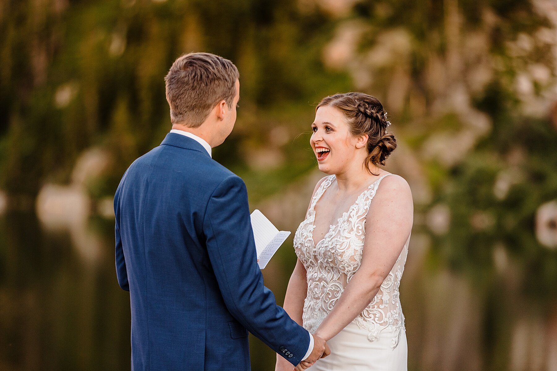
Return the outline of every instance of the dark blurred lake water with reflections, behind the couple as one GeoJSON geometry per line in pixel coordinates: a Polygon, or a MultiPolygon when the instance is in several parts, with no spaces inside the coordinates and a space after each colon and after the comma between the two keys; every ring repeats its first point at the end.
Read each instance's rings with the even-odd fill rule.
{"type": "MultiPolygon", "coordinates": [[[[129,295],[115,280],[111,225],[91,222],[89,228],[101,241],[94,259],[81,253],[69,231],[45,231],[32,213],[2,218],[2,369],[129,369],[129,295]]],[[[413,235],[400,288],[409,369],[555,370],[553,294],[521,295],[524,269],[504,257],[496,258],[503,261],[494,278],[471,281],[439,266],[430,243],[413,235]]],[[[289,240],[264,271],[279,302],[294,264],[289,240]]],[[[272,350],[254,337],[251,347],[253,369],[272,369],[272,350]]]]}

